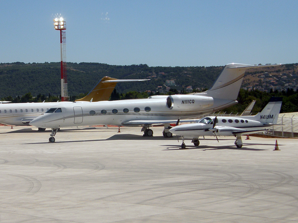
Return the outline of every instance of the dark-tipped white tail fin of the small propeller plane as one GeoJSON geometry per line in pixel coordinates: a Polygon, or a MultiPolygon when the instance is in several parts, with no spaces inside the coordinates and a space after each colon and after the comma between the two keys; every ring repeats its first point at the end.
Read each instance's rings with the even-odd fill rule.
{"type": "Polygon", "coordinates": [[[271,97],[266,106],[258,114],[252,116],[252,119],[265,123],[276,124],[282,101],[282,97],[271,97]]]}

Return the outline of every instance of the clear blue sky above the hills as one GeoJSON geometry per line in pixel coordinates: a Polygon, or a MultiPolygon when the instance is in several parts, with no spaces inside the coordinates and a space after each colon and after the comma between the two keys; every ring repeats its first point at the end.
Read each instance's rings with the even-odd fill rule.
{"type": "Polygon", "coordinates": [[[298,1],[0,1],[0,62],[298,62],[298,1]],[[61,2],[61,5],[59,3],[61,2]]]}

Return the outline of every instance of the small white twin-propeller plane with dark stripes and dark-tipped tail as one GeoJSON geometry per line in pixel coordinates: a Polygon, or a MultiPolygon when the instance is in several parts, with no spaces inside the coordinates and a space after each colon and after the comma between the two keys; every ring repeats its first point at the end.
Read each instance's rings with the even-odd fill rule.
{"type": "MultiPolygon", "coordinates": [[[[184,137],[193,137],[193,144],[200,144],[198,136],[235,136],[235,145],[242,147],[241,135],[270,131],[270,127],[277,123],[278,114],[283,98],[272,97],[267,105],[256,115],[217,117],[208,116],[197,123],[177,125],[169,131],[177,136],[182,136],[181,148],[184,149],[184,137]]],[[[218,141],[218,139],[217,139],[218,141]]]]}

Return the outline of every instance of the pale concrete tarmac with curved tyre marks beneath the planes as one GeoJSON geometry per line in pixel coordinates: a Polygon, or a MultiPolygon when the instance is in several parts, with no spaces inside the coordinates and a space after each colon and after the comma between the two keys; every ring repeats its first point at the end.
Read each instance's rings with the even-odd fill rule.
{"type": "Polygon", "coordinates": [[[298,222],[298,141],[0,126],[0,222],[298,222]]]}

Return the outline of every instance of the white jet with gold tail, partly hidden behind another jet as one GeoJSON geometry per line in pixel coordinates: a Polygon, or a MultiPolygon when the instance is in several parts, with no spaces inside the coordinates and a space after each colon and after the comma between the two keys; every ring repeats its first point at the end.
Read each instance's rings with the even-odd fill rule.
{"type": "MultiPolygon", "coordinates": [[[[77,103],[108,100],[118,82],[145,81],[144,80],[118,80],[110,77],[103,77],[97,85],[84,97],[76,100],[77,103]]],[[[61,103],[73,102],[37,102],[37,103],[1,103],[0,123],[6,125],[29,125],[29,123],[48,111],[53,106],[61,103]]],[[[43,131],[45,128],[38,128],[43,131]]]]}

